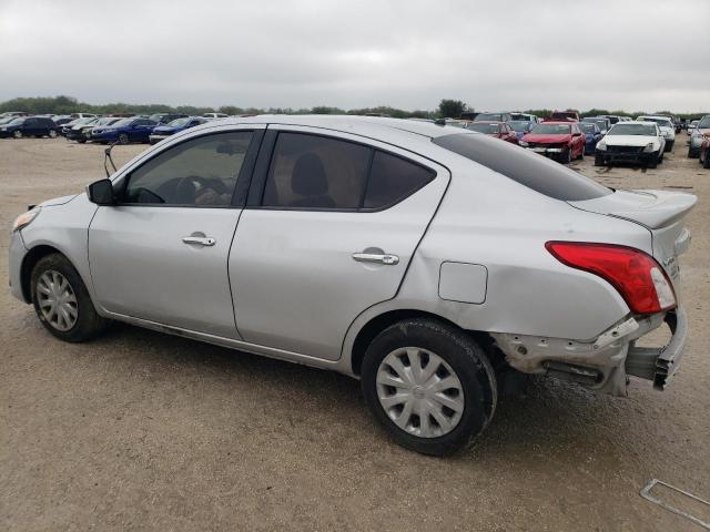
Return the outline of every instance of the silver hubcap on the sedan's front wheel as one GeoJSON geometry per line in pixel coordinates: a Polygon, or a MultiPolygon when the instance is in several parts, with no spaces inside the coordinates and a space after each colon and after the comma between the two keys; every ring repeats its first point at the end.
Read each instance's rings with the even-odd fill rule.
{"type": "Polygon", "coordinates": [[[69,330],[77,324],[79,305],[69,280],[59,272],[47,270],[37,282],[37,300],[44,319],[57,330],[69,330]]]}

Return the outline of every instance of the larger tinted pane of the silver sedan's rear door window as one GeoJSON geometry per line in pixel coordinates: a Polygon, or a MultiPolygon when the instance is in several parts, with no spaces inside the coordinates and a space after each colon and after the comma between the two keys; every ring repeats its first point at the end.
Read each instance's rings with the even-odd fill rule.
{"type": "Polygon", "coordinates": [[[372,150],[353,142],[280,133],[262,204],[270,207],[358,208],[372,150]]]}

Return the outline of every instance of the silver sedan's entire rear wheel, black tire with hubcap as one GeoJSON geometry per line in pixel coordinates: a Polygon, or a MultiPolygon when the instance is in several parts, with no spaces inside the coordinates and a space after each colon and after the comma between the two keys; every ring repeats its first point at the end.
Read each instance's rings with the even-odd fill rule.
{"type": "Polygon", "coordinates": [[[377,421],[402,447],[424,454],[447,456],[469,447],[490,422],[498,400],[495,371],[484,350],[463,331],[429,319],[404,320],[383,330],[365,352],[361,377],[365,403],[377,421]],[[413,372],[415,367],[420,370],[413,372]],[[428,378],[427,371],[433,371],[428,378]],[[444,380],[453,386],[432,389],[444,380]],[[386,410],[393,393],[408,399],[386,410]]]}

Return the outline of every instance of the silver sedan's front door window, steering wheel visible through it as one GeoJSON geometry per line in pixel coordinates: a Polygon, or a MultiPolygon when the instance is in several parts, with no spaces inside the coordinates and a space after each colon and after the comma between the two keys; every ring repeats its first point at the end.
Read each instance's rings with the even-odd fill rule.
{"type": "Polygon", "coordinates": [[[124,203],[229,206],[252,134],[216,133],[161,152],[128,177],[124,203]]]}

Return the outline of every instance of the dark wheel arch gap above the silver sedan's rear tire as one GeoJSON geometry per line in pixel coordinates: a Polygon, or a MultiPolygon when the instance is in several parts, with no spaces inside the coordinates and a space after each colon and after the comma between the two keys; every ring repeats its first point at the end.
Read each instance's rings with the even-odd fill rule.
{"type": "Polygon", "coordinates": [[[363,364],[363,358],[365,357],[365,351],[367,350],[367,346],[375,339],[375,337],[385,330],[387,327],[396,324],[397,321],[402,321],[404,319],[412,318],[426,318],[433,321],[438,321],[442,324],[446,324],[450,327],[454,327],[458,330],[464,331],[465,334],[471,336],[475,340],[477,340],[486,352],[491,354],[493,346],[493,337],[488,332],[483,331],[474,331],[463,329],[460,326],[437,314],[414,309],[414,308],[398,308],[394,310],[387,310],[377,316],[372,317],[361,329],[357,331],[355,339],[353,340],[353,347],[349,352],[349,370],[353,375],[359,376],[361,368],[363,364]]]}

